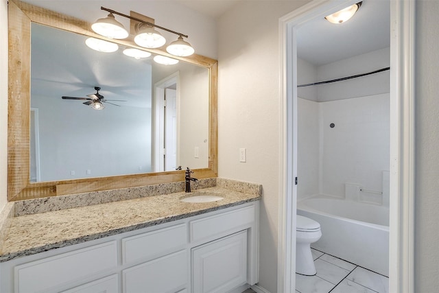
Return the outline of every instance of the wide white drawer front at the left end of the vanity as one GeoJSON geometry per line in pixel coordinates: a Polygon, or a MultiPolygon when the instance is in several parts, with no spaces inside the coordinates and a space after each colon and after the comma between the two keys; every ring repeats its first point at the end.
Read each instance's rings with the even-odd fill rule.
{"type": "Polygon", "coordinates": [[[14,268],[15,292],[39,292],[117,266],[116,241],[82,248],[14,268]]]}

